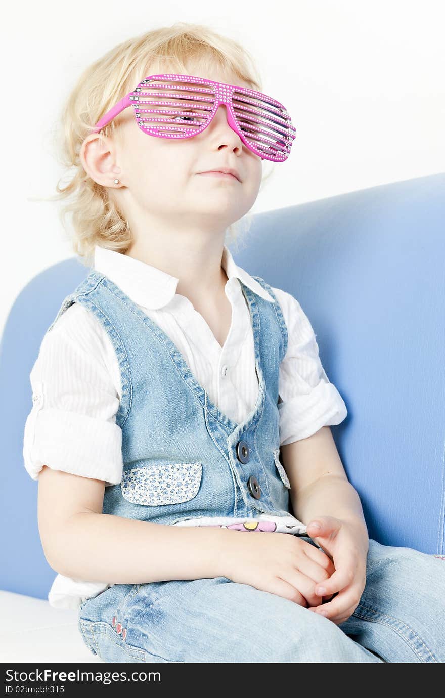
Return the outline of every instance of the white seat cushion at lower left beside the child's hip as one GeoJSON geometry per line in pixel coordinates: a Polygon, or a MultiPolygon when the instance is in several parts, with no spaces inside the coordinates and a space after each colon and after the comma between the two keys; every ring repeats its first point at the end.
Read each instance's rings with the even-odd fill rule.
{"type": "Polygon", "coordinates": [[[103,662],[77,628],[78,611],[47,600],[0,591],[0,662],[103,662]]]}

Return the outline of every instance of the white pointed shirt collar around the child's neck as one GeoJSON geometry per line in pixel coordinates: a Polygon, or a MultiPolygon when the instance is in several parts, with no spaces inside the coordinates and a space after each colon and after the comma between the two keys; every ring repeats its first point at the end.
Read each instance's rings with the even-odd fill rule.
{"type": "MultiPolygon", "coordinates": [[[[147,309],[163,308],[176,295],[176,287],[179,283],[176,276],[171,276],[158,267],[152,267],[146,262],[141,262],[121,252],[96,245],[93,266],[97,272],[105,274],[108,279],[119,286],[133,302],[147,309]]],[[[273,298],[262,285],[235,264],[232,253],[226,245],[223,248],[221,266],[228,279],[236,277],[254,293],[273,303],[273,298]]]]}

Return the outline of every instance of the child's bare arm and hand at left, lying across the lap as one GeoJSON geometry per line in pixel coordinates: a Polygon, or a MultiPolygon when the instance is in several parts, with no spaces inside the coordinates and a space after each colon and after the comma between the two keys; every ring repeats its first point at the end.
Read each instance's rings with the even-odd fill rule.
{"type": "Polygon", "coordinates": [[[102,514],[105,481],[43,466],[38,526],[45,557],[65,577],[111,584],[227,577],[306,606],[334,572],[322,550],[294,535],[248,535],[102,514]]]}

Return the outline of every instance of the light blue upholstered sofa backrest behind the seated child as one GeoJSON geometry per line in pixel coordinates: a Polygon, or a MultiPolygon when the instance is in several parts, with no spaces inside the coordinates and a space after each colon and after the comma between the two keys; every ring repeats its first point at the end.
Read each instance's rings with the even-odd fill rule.
{"type": "MultiPolygon", "coordinates": [[[[332,427],[370,537],[444,554],[445,173],[253,216],[234,259],[292,293],[348,409],[332,427]]],[[[0,589],[47,599],[37,482],[24,469],[29,373],[62,299],[88,270],[70,258],[32,279],[0,344],[0,589]]]]}

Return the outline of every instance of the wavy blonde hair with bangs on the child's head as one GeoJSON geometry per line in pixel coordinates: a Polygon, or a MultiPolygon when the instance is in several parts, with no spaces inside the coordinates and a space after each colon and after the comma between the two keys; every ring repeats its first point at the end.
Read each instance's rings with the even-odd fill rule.
{"type": "MultiPolygon", "coordinates": [[[[66,186],[60,186],[66,176],[63,174],[56,185],[57,194],[44,200],[64,202],[60,211],[64,228],[65,217],[72,214],[74,235],[68,237],[73,251],[85,265],[92,265],[96,244],[125,253],[133,235],[108,188],[97,184],[85,172],[79,157],[82,142],[100,117],[149,75],[146,72],[149,66],[158,66],[156,72],[160,73],[186,74],[187,61],[193,61],[204,71],[206,66],[216,65],[234,73],[252,89],[262,91],[252,57],[239,43],[201,24],[176,22],[116,45],[84,70],[68,96],[59,121],[61,135],[56,156],[73,174],[66,186]]],[[[119,118],[113,119],[101,133],[119,138],[119,118]]],[[[263,176],[262,182],[267,177],[263,176]]],[[[250,223],[251,216],[243,216],[229,225],[225,243],[239,242],[250,223]]]]}

